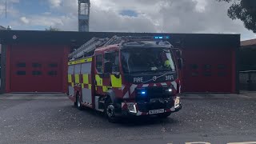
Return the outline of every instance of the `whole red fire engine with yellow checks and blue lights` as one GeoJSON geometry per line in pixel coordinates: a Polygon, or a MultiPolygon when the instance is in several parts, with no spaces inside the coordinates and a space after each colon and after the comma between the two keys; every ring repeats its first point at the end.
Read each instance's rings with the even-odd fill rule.
{"type": "Polygon", "coordinates": [[[92,38],[69,54],[68,95],[79,110],[166,118],[182,109],[178,69],[182,59],[163,37],[92,38]]]}

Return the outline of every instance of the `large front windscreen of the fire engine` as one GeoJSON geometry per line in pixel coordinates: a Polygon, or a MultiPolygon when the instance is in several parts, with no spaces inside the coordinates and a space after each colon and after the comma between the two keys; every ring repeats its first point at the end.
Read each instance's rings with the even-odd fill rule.
{"type": "Polygon", "coordinates": [[[164,48],[143,48],[122,50],[122,69],[124,73],[175,70],[170,50],[164,48]]]}

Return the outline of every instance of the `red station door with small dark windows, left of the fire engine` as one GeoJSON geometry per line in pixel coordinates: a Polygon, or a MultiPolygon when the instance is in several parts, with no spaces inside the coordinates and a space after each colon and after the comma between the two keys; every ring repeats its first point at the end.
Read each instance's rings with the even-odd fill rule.
{"type": "Polygon", "coordinates": [[[62,92],[61,46],[11,46],[10,92],[62,92]]]}

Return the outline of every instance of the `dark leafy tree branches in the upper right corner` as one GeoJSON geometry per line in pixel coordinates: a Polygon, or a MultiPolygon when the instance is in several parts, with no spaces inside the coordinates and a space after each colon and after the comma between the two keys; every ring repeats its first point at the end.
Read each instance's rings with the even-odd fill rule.
{"type": "Polygon", "coordinates": [[[234,19],[240,19],[246,29],[256,33],[256,0],[217,0],[218,2],[233,2],[227,15],[234,19]]]}

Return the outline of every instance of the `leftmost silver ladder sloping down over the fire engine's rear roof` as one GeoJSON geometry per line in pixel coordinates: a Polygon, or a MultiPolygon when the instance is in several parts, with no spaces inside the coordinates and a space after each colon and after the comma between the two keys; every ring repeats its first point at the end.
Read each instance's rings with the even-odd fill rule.
{"type": "Polygon", "coordinates": [[[109,41],[110,38],[91,38],[88,42],[83,44],[75,50],[71,54],[68,55],[70,59],[77,59],[84,56],[86,53],[90,53],[91,51],[96,50],[99,46],[104,45],[106,42],[109,41]]]}

